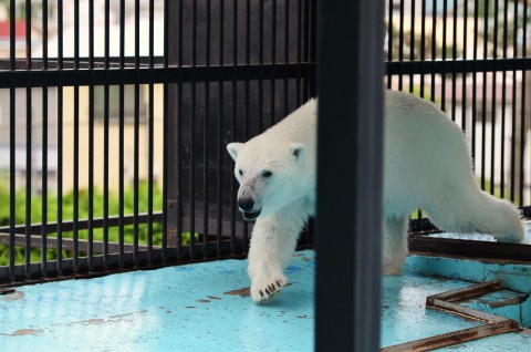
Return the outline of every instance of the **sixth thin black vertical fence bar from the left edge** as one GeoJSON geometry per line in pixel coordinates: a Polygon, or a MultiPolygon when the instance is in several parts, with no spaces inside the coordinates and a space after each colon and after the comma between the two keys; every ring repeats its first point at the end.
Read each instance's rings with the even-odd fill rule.
{"type": "MultiPolygon", "coordinates": [[[[88,68],[94,70],[94,0],[88,1],[88,68]]],[[[88,85],[88,271],[94,270],[94,85],[88,85]]],[[[104,253],[107,268],[107,253],[104,253]]]]}

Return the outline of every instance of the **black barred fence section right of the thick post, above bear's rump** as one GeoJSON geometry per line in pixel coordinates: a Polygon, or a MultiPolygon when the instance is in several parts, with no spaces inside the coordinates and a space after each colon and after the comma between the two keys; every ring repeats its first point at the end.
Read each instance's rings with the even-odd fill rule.
{"type": "Polygon", "coordinates": [[[387,87],[465,131],[481,187],[531,204],[528,1],[388,0],[387,87]]]}

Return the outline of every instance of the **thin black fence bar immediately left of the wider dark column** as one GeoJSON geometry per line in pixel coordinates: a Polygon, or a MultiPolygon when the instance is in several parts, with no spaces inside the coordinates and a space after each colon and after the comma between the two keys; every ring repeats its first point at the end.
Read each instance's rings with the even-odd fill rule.
{"type": "MultiPolygon", "coordinates": [[[[155,62],[155,0],[149,0],[149,69],[153,69],[155,62]]],[[[154,85],[149,83],[149,105],[148,105],[148,180],[147,180],[147,263],[153,265],[153,187],[154,187],[154,134],[155,134],[155,103],[154,85]]]]}

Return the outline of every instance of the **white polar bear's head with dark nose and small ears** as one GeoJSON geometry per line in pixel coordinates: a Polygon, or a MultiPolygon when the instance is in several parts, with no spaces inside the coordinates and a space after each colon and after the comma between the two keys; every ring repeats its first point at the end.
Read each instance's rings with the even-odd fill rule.
{"type": "Polygon", "coordinates": [[[240,183],[238,207],[246,220],[274,214],[301,197],[305,147],[253,138],[227,145],[240,183]]]}

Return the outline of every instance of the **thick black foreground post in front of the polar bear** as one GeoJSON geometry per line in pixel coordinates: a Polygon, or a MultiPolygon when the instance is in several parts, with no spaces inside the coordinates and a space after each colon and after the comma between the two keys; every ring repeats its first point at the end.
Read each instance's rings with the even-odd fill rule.
{"type": "Polygon", "coordinates": [[[383,76],[383,3],[346,0],[317,6],[315,346],[317,351],[377,351],[383,86],[375,77],[383,76]],[[351,45],[345,45],[344,33],[354,35],[351,45]],[[357,151],[354,157],[353,149],[357,151]],[[348,161],[342,162],[341,169],[331,167],[344,158],[348,161]]]}

